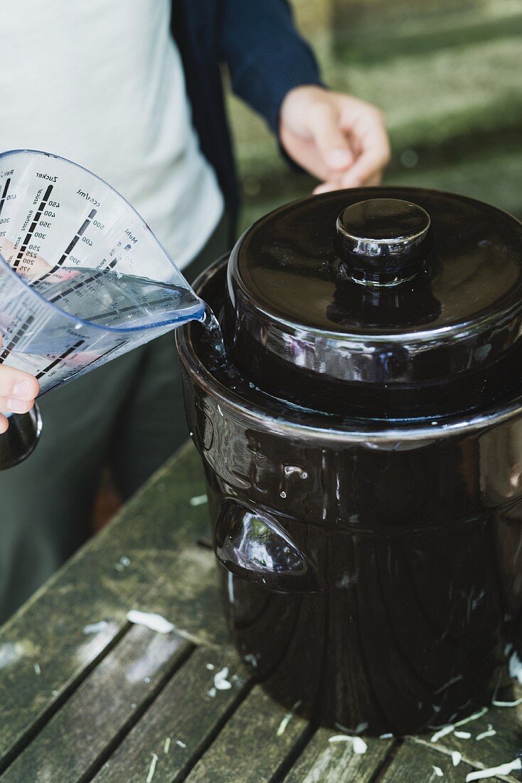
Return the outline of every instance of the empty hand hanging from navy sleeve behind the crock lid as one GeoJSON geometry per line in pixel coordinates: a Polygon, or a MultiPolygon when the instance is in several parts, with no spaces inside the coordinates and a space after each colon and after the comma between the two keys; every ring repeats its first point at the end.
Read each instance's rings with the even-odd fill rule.
{"type": "Polygon", "coordinates": [[[315,85],[286,94],[279,137],[293,161],[321,180],[314,193],[379,185],[390,161],[382,112],[315,85]]]}

